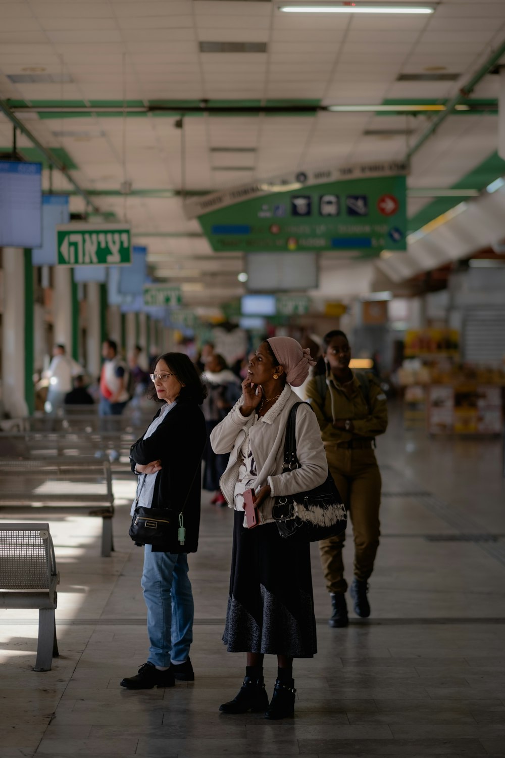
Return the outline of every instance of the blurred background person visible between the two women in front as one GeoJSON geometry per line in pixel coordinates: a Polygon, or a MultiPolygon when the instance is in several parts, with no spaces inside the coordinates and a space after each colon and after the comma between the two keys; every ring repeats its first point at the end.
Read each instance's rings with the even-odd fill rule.
{"type": "MultiPolygon", "coordinates": [[[[202,380],[207,385],[208,395],[204,399],[202,410],[204,412],[207,434],[214,429],[235,405],[242,394],[242,385],[235,374],[226,365],[223,356],[212,353],[205,365],[202,380]]],[[[210,503],[214,506],[226,506],[226,500],[221,493],[219,481],[226,470],[229,455],[217,455],[210,445],[207,445],[204,453],[204,490],[214,492],[210,503]]]]}

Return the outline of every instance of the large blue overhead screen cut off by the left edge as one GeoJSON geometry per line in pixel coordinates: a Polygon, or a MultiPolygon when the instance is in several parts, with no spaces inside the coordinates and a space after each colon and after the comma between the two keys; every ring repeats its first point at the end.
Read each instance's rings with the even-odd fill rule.
{"type": "Polygon", "coordinates": [[[42,164],[0,161],[0,247],[42,246],[42,164]]]}

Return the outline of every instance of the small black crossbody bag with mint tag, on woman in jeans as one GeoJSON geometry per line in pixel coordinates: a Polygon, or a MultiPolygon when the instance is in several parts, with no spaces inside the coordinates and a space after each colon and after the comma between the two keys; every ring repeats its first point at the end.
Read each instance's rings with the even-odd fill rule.
{"type": "Polygon", "coordinates": [[[136,507],[133,511],[132,523],[128,531],[129,536],[138,547],[142,547],[142,545],[163,547],[170,542],[170,540],[175,542],[176,535],[177,540],[179,540],[179,545],[185,543],[184,509],[188,502],[193,482],[198,474],[200,464],[201,458],[198,461],[195,475],[189,485],[188,494],[185,496],[185,501],[178,515],[176,511],[168,508],[146,508],[145,506],[137,505],[137,503],[139,503],[140,493],[142,493],[142,487],[144,487],[145,484],[145,477],[147,476],[144,475],[142,486],[140,487],[139,494],[135,501],[136,507]]]}

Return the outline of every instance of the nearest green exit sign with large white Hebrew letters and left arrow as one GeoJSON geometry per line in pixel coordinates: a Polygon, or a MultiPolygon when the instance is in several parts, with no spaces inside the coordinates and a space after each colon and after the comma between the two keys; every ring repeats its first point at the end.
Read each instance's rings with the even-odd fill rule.
{"type": "Polygon", "coordinates": [[[56,227],[59,266],[120,266],[132,262],[125,224],[62,224],[56,227]]]}

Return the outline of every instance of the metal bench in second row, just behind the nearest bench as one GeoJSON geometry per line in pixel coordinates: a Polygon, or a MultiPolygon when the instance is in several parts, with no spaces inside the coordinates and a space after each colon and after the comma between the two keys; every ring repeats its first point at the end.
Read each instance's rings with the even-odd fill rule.
{"type": "Polygon", "coordinates": [[[8,512],[23,507],[98,516],[102,519],[101,555],[108,557],[114,550],[114,495],[108,460],[0,459],[0,509],[8,512]]]}

